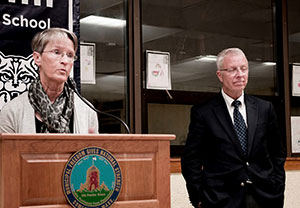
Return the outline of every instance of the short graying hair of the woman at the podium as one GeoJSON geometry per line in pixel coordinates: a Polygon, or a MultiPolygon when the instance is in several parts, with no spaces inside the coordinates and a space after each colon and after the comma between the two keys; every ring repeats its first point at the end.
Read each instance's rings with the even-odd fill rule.
{"type": "Polygon", "coordinates": [[[73,42],[74,51],[76,52],[78,48],[78,39],[76,35],[67,29],[58,27],[49,28],[37,33],[31,41],[31,49],[32,51],[42,53],[50,41],[66,36],[73,42]]]}

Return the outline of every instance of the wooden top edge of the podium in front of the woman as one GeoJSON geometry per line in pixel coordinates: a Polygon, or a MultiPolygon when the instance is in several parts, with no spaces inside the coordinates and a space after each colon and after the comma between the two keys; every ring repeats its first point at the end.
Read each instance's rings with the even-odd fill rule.
{"type": "Polygon", "coordinates": [[[175,138],[174,134],[0,134],[0,140],[174,140],[175,138]]]}

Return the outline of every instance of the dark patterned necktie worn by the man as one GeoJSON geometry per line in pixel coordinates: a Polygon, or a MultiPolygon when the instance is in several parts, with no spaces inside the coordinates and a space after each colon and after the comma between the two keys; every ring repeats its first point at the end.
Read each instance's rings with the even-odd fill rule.
{"type": "Polygon", "coordinates": [[[246,154],[247,153],[247,126],[245,124],[242,114],[239,111],[239,106],[241,105],[241,102],[235,100],[232,102],[231,105],[234,107],[233,121],[234,121],[235,132],[241,142],[242,150],[244,154],[246,154]]]}

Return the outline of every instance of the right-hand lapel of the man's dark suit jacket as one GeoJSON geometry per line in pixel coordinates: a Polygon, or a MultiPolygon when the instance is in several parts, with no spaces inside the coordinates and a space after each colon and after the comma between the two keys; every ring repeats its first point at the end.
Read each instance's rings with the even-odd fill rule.
{"type": "Polygon", "coordinates": [[[247,112],[247,123],[248,123],[248,155],[251,152],[254,141],[255,127],[257,123],[257,106],[251,97],[245,95],[246,112],[247,112]]]}

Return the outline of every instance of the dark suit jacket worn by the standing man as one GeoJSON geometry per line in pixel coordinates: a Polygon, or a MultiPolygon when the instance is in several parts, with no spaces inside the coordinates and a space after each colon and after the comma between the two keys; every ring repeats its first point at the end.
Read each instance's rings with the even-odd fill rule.
{"type": "Polygon", "coordinates": [[[247,95],[245,104],[247,155],[221,93],[192,107],[181,165],[195,207],[242,208],[246,189],[265,207],[283,207],[286,156],[273,105],[247,95]]]}

